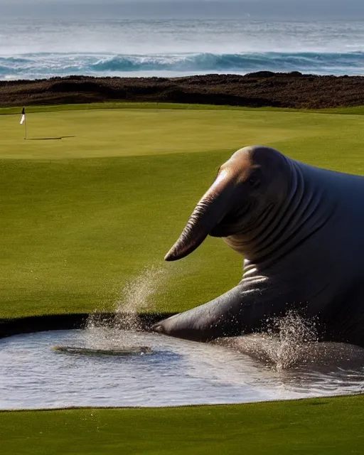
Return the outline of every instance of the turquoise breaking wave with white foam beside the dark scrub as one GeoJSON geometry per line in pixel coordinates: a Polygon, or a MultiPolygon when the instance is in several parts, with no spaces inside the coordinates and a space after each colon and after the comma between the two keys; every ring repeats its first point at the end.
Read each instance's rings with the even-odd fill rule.
{"type": "Polygon", "coordinates": [[[175,75],[250,73],[252,71],[361,75],[364,53],[164,53],[111,55],[32,53],[0,57],[0,79],[36,79],[65,75],[175,75]]]}

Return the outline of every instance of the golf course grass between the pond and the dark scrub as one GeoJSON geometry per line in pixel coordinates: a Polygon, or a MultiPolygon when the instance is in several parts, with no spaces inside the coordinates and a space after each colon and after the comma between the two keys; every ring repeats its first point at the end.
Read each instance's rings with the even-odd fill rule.
{"type": "Polygon", "coordinates": [[[24,141],[14,115],[0,128],[0,317],[114,309],[124,284],[151,266],[166,274],[151,310],[181,311],[230,289],[242,258],[221,240],[177,263],[163,257],[241,146],[364,173],[358,115],[133,107],[28,114],[29,137],[75,136],[61,140],[24,141]]]}

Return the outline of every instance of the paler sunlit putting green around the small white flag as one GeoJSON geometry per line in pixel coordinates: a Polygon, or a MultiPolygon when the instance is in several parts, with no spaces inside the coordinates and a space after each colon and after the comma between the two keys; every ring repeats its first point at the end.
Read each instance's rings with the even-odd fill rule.
{"type": "Polygon", "coordinates": [[[232,109],[88,109],[1,116],[0,158],[73,159],[232,151],[246,144],[353,140],[362,116],[232,109]],[[342,120],[343,119],[343,120],[342,120]],[[353,124],[354,119],[354,124],[353,124]],[[356,121],[355,121],[356,120],[356,121]],[[345,127],[345,128],[343,128],[345,127]],[[58,139],[63,138],[63,139],[58,139]]]}

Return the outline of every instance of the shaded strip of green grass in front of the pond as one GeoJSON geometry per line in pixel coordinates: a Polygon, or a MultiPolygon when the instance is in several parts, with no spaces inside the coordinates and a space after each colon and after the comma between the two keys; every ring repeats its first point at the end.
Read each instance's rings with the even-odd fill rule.
{"type": "Polygon", "coordinates": [[[241,406],[1,412],[1,454],[363,454],[363,406],[364,395],[241,406]]]}

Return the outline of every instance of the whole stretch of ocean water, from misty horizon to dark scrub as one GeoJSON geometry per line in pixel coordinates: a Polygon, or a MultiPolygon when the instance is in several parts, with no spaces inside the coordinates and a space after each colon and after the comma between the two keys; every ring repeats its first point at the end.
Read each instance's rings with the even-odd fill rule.
{"type": "Polygon", "coordinates": [[[244,75],[259,70],[364,74],[364,18],[349,20],[339,14],[323,20],[318,14],[319,20],[303,20],[297,14],[279,20],[245,10],[237,17],[218,18],[207,10],[204,16],[197,6],[193,17],[190,8],[191,14],[184,15],[178,9],[175,14],[165,9],[142,14],[141,6],[133,14],[118,9],[102,14],[105,9],[95,5],[80,6],[72,14],[67,9],[30,14],[28,9],[19,15],[13,8],[0,17],[0,80],[244,75]]]}

